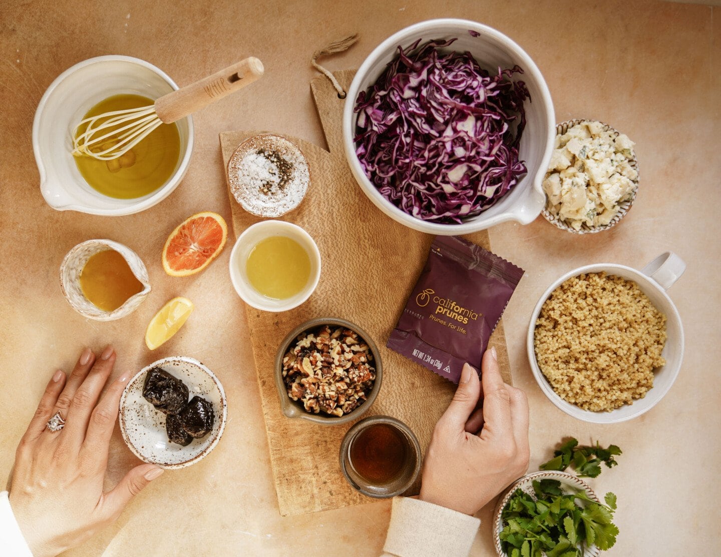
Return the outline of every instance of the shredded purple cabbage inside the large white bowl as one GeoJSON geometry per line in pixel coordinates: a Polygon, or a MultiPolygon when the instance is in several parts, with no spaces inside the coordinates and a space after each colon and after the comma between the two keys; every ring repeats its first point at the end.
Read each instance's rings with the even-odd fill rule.
{"type": "Polygon", "coordinates": [[[409,215],[461,223],[526,173],[518,66],[491,76],[471,53],[441,53],[456,39],[420,39],[388,64],[355,104],[355,153],[381,195],[409,215]],[[515,133],[512,123],[516,123],[515,133]]]}

